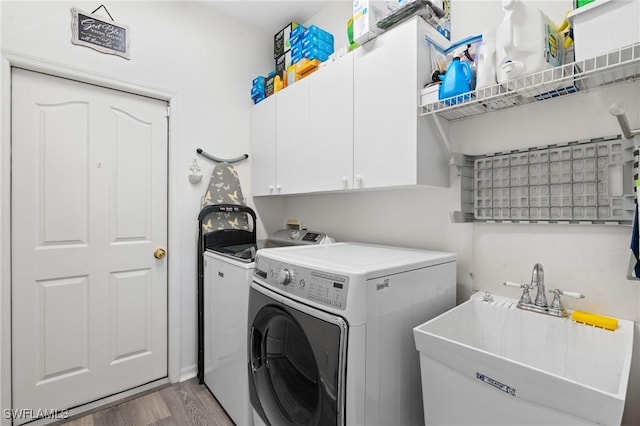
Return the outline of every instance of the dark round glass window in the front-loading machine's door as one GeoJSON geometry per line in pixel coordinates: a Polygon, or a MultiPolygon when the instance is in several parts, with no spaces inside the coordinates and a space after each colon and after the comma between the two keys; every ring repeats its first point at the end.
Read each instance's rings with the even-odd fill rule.
{"type": "Polygon", "coordinates": [[[315,355],[300,325],[280,309],[260,311],[252,330],[253,380],[270,420],[310,424],[320,406],[315,355]],[[284,418],[283,418],[284,417],[284,418]]]}

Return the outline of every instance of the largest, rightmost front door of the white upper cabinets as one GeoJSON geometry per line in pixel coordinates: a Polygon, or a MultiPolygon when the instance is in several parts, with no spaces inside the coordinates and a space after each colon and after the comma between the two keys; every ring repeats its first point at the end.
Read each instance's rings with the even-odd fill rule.
{"type": "Polygon", "coordinates": [[[417,183],[417,27],[412,19],[355,51],[356,188],[417,183]]]}

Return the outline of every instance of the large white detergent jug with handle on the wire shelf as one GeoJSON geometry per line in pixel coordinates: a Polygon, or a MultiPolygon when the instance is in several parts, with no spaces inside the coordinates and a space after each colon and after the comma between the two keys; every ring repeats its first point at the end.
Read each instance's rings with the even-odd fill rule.
{"type": "Polygon", "coordinates": [[[504,83],[562,64],[562,42],[540,9],[502,0],[504,18],[496,34],[496,78],[504,83]]]}

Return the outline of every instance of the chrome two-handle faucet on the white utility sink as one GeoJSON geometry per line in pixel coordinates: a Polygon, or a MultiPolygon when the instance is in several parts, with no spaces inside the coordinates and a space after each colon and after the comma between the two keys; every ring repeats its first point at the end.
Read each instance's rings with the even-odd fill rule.
{"type": "Polygon", "coordinates": [[[531,273],[531,284],[518,284],[507,281],[504,283],[504,285],[508,287],[519,287],[522,289],[522,296],[520,297],[520,301],[518,302],[518,308],[525,309],[527,311],[539,312],[541,314],[553,315],[556,317],[567,316],[567,311],[562,306],[560,295],[571,296],[575,297],[576,299],[584,298],[582,294],[576,292],[562,291],[557,289],[549,290],[549,292],[553,293],[554,296],[553,302],[551,303],[551,306],[549,306],[544,289],[544,269],[542,268],[541,263],[536,263],[533,266],[533,272],[531,273]],[[536,287],[538,289],[538,293],[536,294],[535,302],[532,303],[531,297],[529,296],[529,290],[533,290],[536,287]]]}

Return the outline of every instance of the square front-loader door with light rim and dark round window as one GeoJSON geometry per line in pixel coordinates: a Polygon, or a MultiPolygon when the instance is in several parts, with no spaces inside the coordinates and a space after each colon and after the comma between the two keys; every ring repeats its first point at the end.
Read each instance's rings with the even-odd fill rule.
{"type": "MultiPolygon", "coordinates": [[[[342,425],[346,323],[251,288],[249,393],[273,426],[342,425]],[[294,307],[295,306],[295,307],[294,307]]],[[[281,297],[280,297],[281,298],[281,297]]]]}

